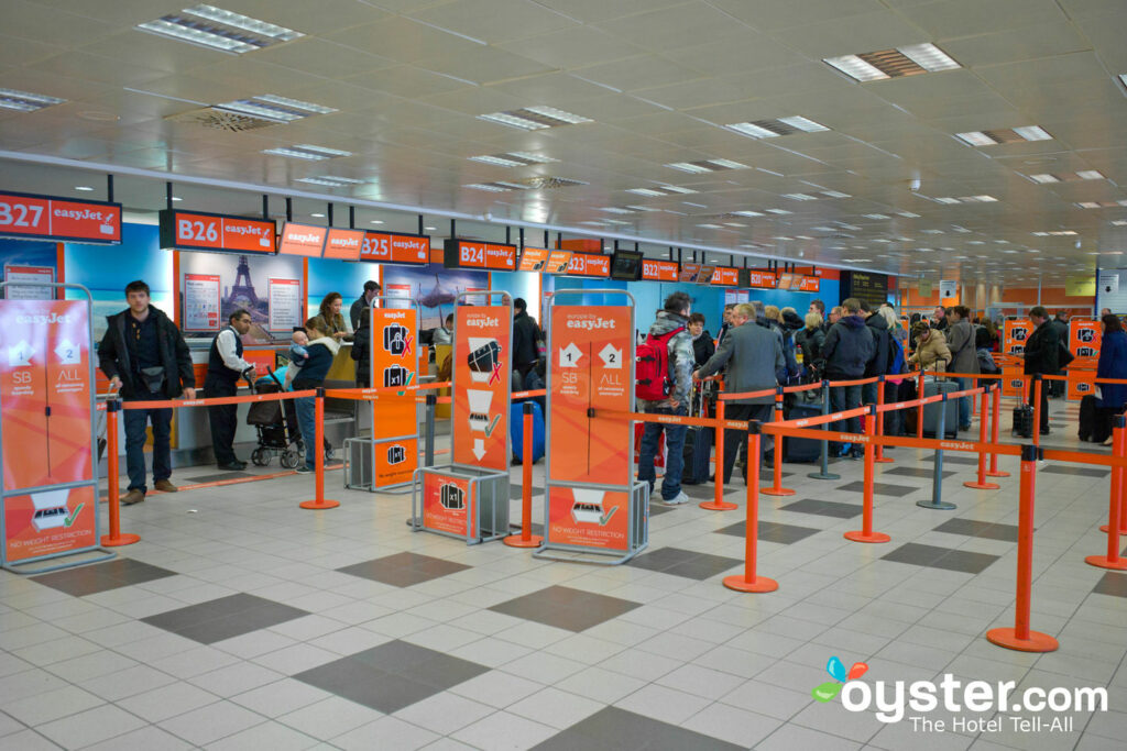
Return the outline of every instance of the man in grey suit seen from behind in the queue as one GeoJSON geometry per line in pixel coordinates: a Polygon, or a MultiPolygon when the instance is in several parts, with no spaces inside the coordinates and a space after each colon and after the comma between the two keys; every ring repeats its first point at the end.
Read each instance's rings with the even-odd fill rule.
{"type": "MultiPolygon", "coordinates": [[[[693,378],[700,379],[718,373],[727,366],[724,377],[724,390],[729,394],[748,391],[774,388],[779,376],[786,377],[787,360],[783,358],[782,345],[770,329],[755,325],[755,309],[742,303],[731,311],[731,329],[720,342],[716,355],[701,366],[693,378]]],[[[774,408],[774,394],[755,399],[738,399],[725,404],[725,417],[730,420],[758,420],[770,422],[774,408]]],[[[731,465],[736,461],[747,433],[743,430],[728,430],[724,436],[724,482],[731,481],[731,465]]],[[[760,458],[766,441],[760,445],[760,458]]],[[[748,461],[753,461],[748,457],[748,461]]],[[[744,480],[747,480],[745,471],[744,480]]]]}

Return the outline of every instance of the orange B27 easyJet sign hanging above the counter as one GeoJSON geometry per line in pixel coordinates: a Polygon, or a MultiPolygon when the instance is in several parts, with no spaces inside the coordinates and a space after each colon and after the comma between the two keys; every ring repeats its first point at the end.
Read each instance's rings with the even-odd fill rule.
{"type": "Polygon", "coordinates": [[[117,244],[122,205],[0,191],[0,238],[117,244]]]}

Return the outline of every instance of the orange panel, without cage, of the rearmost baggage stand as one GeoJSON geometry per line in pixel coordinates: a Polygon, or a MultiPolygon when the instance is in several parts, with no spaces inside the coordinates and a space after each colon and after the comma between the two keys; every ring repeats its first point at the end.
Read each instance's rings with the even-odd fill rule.
{"type": "MultiPolygon", "coordinates": [[[[374,387],[410,386],[418,381],[418,310],[375,307],[372,316],[372,381],[374,387]]],[[[418,468],[418,437],[412,391],[378,394],[375,419],[375,486],[411,481],[418,468]]]]}

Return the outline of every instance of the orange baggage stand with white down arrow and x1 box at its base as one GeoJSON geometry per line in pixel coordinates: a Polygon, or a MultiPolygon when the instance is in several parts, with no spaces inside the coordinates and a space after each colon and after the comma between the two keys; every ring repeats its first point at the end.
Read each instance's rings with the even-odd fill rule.
{"type": "MultiPolygon", "coordinates": [[[[477,545],[502,539],[511,531],[508,465],[513,453],[509,445],[508,408],[513,395],[513,296],[500,289],[463,292],[455,295],[453,339],[451,461],[447,464],[419,467],[415,471],[411,484],[411,518],[408,524],[414,531],[429,531],[464,539],[467,545],[477,545]],[[494,304],[495,298],[499,299],[499,304],[494,304]],[[469,305],[462,302],[468,299],[483,299],[486,304],[469,305]],[[486,321],[494,313],[503,313],[503,318],[486,321]],[[478,328],[483,329],[480,338],[488,341],[479,346],[469,341],[470,329],[468,324],[460,323],[463,318],[469,316],[478,316],[481,323],[478,328]],[[460,325],[467,325],[467,332],[460,332],[460,325]],[[497,336],[489,336],[490,330],[497,336]],[[487,348],[486,355],[496,358],[496,361],[491,363],[492,368],[486,372],[470,366],[472,356],[482,348],[487,348]],[[467,359],[465,363],[460,361],[463,358],[467,359]],[[485,374],[481,382],[473,377],[479,373],[485,374]],[[499,383],[494,387],[496,374],[499,374],[499,383]],[[470,392],[473,392],[472,397],[470,392]],[[480,414],[473,413],[474,402],[482,399],[480,394],[488,395],[490,401],[487,405],[485,424],[474,427],[474,420],[478,422],[482,420],[480,414]],[[460,417],[462,410],[467,408],[469,414],[467,424],[463,426],[460,417]],[[490,410],[497,410],[497,418],[492,421],[488,419],[490,410]],[[476,438],[472,435],[476,432],[486,435],[483,438],[476,438]],[[488,440],[492,436],[498,436],[502,441],[500,457],[496,456],[497,440],[488,440]],[[467,446],[469,448],[465,448],[467,446]],[[476,466],[471,461],[460,461],[467,452],[479,462],[488,464],[491,459],[496,466],[476,466]],[[435,494],[442,510],[434,507],[435,494]],[[434,510],[433,516],[428,515],[428,504],[434,510]],[[461,519],[462,516],[464,521],[461,519]]],[[[474,363],[477,361],[474,359],[474,363]]]]}

